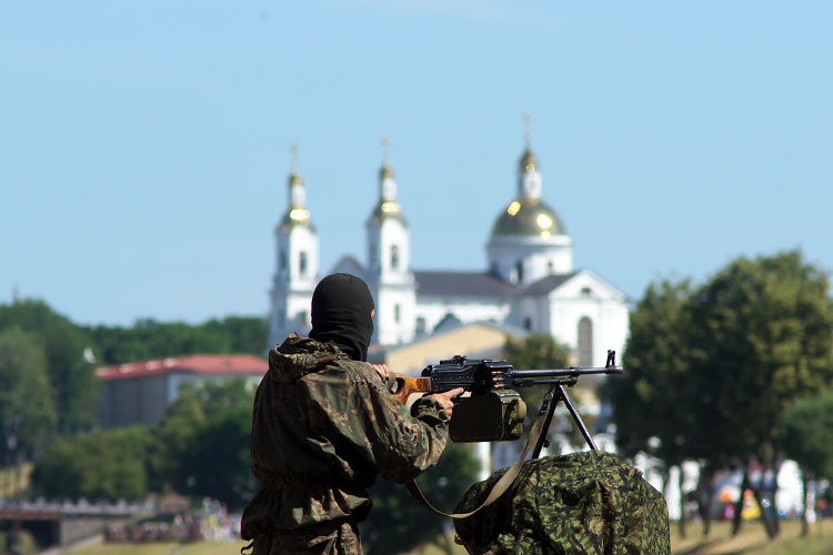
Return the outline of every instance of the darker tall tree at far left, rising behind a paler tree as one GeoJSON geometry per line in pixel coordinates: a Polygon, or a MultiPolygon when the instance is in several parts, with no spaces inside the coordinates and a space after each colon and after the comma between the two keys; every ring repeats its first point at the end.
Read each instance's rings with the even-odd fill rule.
{"type": "Polygon", "coordinates": [[[100,387],[89,357],[91,339],[42,301],[0,305],[0,330],[12,326],[34,334],[46,353],[58,431],[69,433],[92,425],[100,387]]]}

